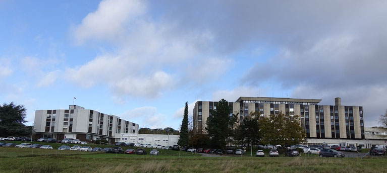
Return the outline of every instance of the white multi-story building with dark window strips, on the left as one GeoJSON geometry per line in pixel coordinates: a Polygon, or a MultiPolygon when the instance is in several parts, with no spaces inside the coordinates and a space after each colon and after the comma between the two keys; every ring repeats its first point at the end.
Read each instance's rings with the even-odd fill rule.
{"type": "Polygon", "coordinates": [[[70,105],[69,109],[35,111],[36,138],[74,138],[81,141],[102,139],[115,142],[114,138],[121,138],[121,133],[138,133],[138,127],[138,124],[115,115],[76,105],[70,105]]]}

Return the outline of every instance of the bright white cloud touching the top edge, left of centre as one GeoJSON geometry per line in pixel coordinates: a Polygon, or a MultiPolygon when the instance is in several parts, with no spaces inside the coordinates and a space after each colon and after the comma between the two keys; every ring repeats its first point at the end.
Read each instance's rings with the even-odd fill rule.
{"type": "Polygon", "coordinates": [[[130,20],[142,15],[145,11],[143,1],[104,0],[98,9],[89,13],[82,23],[75,28],[77,43],[87,39],[120,39],[125,33],[130,20]]]}

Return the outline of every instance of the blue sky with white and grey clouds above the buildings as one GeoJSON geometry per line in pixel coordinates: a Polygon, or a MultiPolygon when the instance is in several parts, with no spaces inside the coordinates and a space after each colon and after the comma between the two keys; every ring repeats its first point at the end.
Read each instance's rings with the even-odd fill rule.
{"type": "Polygon", "coordinates": [[[0,0],[0,101],[179,129],[185,102],[387,109],[387,1],[0,0]]]}

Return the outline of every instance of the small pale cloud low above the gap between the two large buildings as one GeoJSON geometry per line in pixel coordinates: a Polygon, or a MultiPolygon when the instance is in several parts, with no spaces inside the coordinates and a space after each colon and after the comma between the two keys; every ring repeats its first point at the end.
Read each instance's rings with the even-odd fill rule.
{"type": "Polygon", "coordinates": [[[165,128],[164,114],[157,114],[157,108],[151,106],[145,106],[141,108],[135,108],[133,110],[126,111],[120,115],[121,118],[129,121],[140,121],[141,127],[148,128],[165,128]]]}

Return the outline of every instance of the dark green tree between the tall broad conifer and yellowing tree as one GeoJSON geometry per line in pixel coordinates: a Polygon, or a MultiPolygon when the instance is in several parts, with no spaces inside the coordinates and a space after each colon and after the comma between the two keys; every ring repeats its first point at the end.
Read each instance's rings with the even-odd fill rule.
{"type": "Polygon", "coordinates": [[[259,115],[258,112],[252,112],[249,116],[244,117],[243,122],[235,129],[234,140],[239,141],[240,144],[250,145],[251,141],[253,144],[258,144],[260,140],[259,115]]]}

